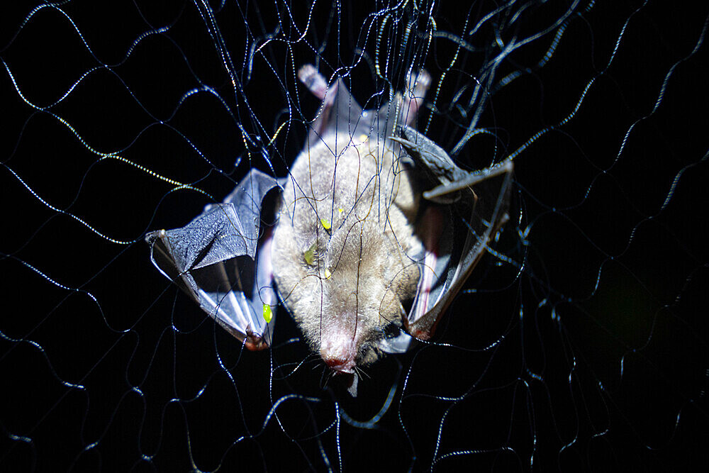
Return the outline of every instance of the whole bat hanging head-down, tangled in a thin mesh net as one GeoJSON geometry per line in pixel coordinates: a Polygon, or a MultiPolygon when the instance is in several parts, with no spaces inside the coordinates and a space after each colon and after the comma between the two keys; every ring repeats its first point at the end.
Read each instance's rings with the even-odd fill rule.
{"type": "Polygon", "coordinates": [[[366,111],[342,79],[312,65],[298,78],[322,103],[289,176],[252,169],[223,204],[146,241],[162,274],[252,350],[270,345],[280,301],[354,395],[356,367],[434,333],[508,220],[513,163],[468,172],[411,127],[425,71],[366,111]]]}

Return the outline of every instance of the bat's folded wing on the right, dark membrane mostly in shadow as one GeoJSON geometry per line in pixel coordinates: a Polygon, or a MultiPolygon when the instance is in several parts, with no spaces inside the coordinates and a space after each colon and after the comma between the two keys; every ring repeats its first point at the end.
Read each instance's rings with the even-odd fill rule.
{"type": "MultiPolygon", "coordinates": [[[[415,338],[427,340],[498,230],[508,220],[511,161],[467,172],[438,145],[403,127],[401,144],[431,189],[430,204],[420,213],[418,231],[425,243],[420,280],[404,325],[415,338]]],[[[425,204],[424,204],[425,205],[425,204]]]]}

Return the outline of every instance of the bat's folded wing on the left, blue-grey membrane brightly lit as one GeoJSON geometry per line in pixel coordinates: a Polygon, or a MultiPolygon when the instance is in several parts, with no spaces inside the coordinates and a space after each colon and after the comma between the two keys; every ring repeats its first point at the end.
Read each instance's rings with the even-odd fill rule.
{"type": "Polygon", "coordinates": [[[222,204],[182,228],[148,233],[153,265],[252,350],[271,343],[276,295],[263,199],[279,181],[252,169],[222,204]]]}

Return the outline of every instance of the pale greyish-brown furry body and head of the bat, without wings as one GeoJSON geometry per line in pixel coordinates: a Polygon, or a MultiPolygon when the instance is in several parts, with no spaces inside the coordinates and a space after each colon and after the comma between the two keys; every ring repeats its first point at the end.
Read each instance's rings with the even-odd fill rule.
{"type": "Polygon", "coordinates": [[[358,365],[376,360],[373,342],[386,325],[401,324],[401,301],[418,283],[413,255],[422,250],[411,170],[394,143],[364,138],[331,134],[301,152],[272,248],[281,299],[313,350],[325,358],[351,350],[351,341],[358,365]]]}

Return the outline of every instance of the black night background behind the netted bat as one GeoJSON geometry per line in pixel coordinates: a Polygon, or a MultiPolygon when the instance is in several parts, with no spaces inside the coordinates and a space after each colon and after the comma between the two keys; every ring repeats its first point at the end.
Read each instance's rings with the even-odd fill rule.
{"type": "MultiPolygon", "coordinates": [[[[568,5],[521,9],[503,38],[568,5]]],[[[425,50],[428,15],[389,4],[213,2],[236,87],[194,4],[71,1],[23,23],[34,6],[0,24],[1,470],[708,464],[707,7],[581,4],[544,67],[556,29],[503,62],[498,78],[524,73],[485,106],[494,135],[456,158],[484,167],[545,132],[515,158],[507,260],[486,257],[434,343],[369,367],[352,399],[289,342],[284,311],[273,350],[242,350],[152,267],[143,235],[252,167],[286,173],[318,108],[294,77],[307,62],[330,77],[364,50],[340,69],[364,108],[409,64],[445,77],[418,128],[451,150],[493,50],[489,23],[464,32],[493,4],[433,6],[425,50]],[[393,25],[412,17],[403,45],[393,25]]]]}

